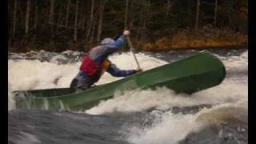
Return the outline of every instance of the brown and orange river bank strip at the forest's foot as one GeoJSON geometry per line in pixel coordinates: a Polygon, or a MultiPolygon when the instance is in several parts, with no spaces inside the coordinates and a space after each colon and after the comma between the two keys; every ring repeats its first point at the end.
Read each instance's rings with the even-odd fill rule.
{"type": "MultiPolygon", "coordinates": [[[[247,49],[248,35],[229,28],[213,28],[203,26],[199,30],[182,29],[175,32],[163,34],[162,37],[150,38],[147,40],[138,39],[131,35],[136,51],[170,51],[170,50],[209,50],[209,49],[247,49]]],[[[72,39],[63,41],[62,39],[49,40],[49,42],[29,41],[10,42],[9,51],[13,53],[24,53],[31,50],[46,50],[50,52],[62,52],[65,50],[85,51],[97,46],[98,42],[86,43],[84,41],[74,42],[72,39]]],[[[122,51],[128,51],[128,46],[123,46],[122,51]]]]}

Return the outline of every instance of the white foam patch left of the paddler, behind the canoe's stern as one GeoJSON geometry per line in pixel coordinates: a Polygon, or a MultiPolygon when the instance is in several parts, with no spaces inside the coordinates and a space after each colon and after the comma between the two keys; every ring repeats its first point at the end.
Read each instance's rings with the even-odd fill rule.
{"type": "Polygon", "coordinates": [[[78,72],[78,64],[57,65],[38,60],[8,61],[10,90],[66,87],[78,72]],[[58,80],[57,80],[58,79],[58,80]]]}

